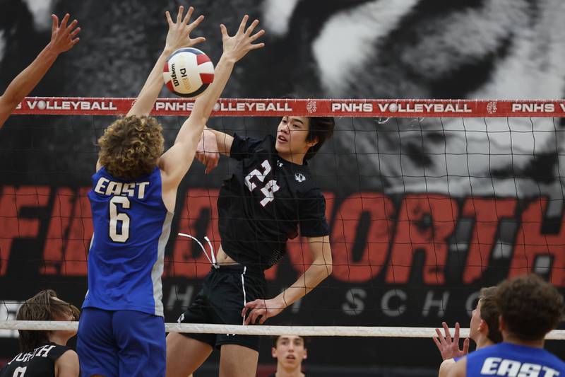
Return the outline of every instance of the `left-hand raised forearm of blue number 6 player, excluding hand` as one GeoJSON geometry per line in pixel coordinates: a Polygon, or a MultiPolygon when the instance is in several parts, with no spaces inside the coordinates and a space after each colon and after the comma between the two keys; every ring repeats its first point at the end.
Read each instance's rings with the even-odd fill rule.
{"type": "Polygon", "coordinates": [[[133,104],[126,116],[137,115],[141,117],[143,115],[149,115],[151,110],[153,110],[153,105],[155,105],[155,101],[165,83],[165,81],[163,81],[163,68],[171,54],[172,51],[170,49],[165,48],[165,50],[163,50],[145,81],[143,88],[141,88],[136,103],[133,104]]]}

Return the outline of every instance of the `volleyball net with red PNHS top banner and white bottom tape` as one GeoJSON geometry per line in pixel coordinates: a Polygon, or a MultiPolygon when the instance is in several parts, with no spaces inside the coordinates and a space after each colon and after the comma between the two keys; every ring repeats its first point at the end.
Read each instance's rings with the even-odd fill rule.
{"type": "MultiPolygon", "coordinates": [[[[82,303],[95,143],[132,103],[26,98],[1,131],[4,334],[76,328],[14,321],[15,313],[40,289],[82,303]]],[[[157,100],[165,147],[193,105],[157,100]]],[[[326,197],[331,277],[267,325],[174,323],[210,271],[205,238],[214,250],[220,245],[216,200],[233,168],[222,158],[205,175],[195,161],[179,187],[165,254],[168,331],[432,337],[441,320],[468,323],[482,286],[535,272],[565,288],[565,101],[222,99],[208,127],[261,138],[286,115],[336,117],[333,139],[310,163],[326,197]]],[[[267,298],[309,267],[301,241],[290,240],[266,271],[267,298]]],[[[548,338],[565,339],[564,330],[548,338]]]]}

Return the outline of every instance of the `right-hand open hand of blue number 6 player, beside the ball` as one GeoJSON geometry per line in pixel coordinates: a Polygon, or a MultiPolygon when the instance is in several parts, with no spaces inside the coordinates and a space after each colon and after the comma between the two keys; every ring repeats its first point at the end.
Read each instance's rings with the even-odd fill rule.
{"type": "Polygon", "coordinates": [[[247,52],[251,50],[265,47],[264,43],[256,43],[255,45],[253,44],[253,42],[255,42],[258,37],[261,37],[261,35],[265,34],[265,30],[259,30],[254,35],[251,35],[251,33],[253,33],[253,30],[255,30],[255,28],[259,24],[259,21],[253,21],[251,25],[249,25],[249,28],[245,29],[248,20],[249,16],[245,15],[242,19],[242,23],[239,24],[237,33],[233,37],[230,37],[230,35],[227,34],[227,28],[224,24],[220,25],[220,30],[222,31],[222,42],[224,44],[224,55],[225,57],[233,59],[234,62],[242,59],[242,57],[244,57],[247,52]]]}

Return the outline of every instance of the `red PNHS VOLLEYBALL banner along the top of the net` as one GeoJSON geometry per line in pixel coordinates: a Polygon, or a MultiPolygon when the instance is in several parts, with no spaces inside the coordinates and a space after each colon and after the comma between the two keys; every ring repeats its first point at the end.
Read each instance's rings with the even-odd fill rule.
{"type": "MultiPolygon", "coordinates": [[[[135,98],[26,98],[15,114],[125,115],[135,98]]],[[[187,115],[194,100],[160,98],[152,115],[187,115]]],[[[565,100],[220,99],[213,116],[563,117],[565,100]]]]}

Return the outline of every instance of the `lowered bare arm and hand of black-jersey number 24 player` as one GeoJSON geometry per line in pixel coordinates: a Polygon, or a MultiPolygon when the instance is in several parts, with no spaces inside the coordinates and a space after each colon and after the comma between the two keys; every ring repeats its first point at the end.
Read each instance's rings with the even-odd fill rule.
{"type": "Polygon", "coordinates": [[[256,323],[257,320],[258,323],[263,324],[268,318],[278,315],[287,306],[309,294],[323,279],[330,276],[332,258],[329,236],[309,237],[307,240],[312,255],[310,267],[304,271],[304,274],[297,279],[295,284],[289,286],[275,298],[270,300],[259,299],[246,303],[242,311],[242,316],[250,311],[245,318],[246,325],[256,323]]]}

